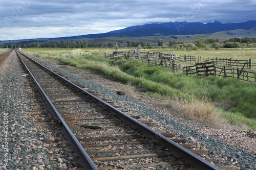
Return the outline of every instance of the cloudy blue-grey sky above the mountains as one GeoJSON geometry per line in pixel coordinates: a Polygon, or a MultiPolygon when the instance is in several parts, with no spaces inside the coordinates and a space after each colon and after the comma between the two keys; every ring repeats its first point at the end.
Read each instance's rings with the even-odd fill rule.
{"type": "Polygon", "coordinates": [[[106,33],[147,22],[256,20],[256,0],[1,0],[0,40],[106,33]]]}

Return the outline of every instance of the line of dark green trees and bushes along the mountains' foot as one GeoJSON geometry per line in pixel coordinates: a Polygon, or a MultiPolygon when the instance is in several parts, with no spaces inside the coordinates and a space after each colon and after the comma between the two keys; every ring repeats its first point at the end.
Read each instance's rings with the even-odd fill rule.
{"type": "MultiPolygon", "coordinates": [[[[154,44],[157,43],[157,46],[152,46],[149,42],[146,41],[127,41],[126,45],[123,44],[123,42],[117,42],[117,43],[88,43],[88,41],[75,41],[75,42],[32,42],[32,43],[20,43],[20,44],[0,44],[3,48],[86,48],[86,47],[114,47],[118,48],[120,46],[127,46],[127,47],[137,47],[141,46],[143,48],[154,48],[154,47],[168,47],[167,45],[164,45],[163,40],[157,40],[157,42],[153,42],[154,44]]],[[[168,45],[169,47],[176,48],[177,50],[197,50],[197,48],[236,48],[236,47],[243,47],[241,46],[241,43],[246,43],[248,47],[250,43],[256,43],[256,38],[230,38],[229,40],[224,41],[223,43],[219,43],[219,39],[200,39],[196,40],[195,43],[186,43],[184,41],[169,41],[168,45]]],[[[243,44],[245,45],[245,44],[243,44]]]]}

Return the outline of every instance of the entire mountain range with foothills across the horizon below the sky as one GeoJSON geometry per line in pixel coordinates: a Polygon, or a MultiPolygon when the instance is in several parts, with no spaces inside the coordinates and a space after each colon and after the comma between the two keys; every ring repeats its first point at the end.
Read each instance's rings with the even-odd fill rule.
{"type": "MultiPolygon", "coordinates": [[[[118,41],[118,39],[131,38],[131,37],[157,37],[157,36],[184,36],[192,35],[205,35],[205,34],[221,34],[225,36],[247,36],[256,37],[256,20],[248,20],[240,23],[221,23],[217,20],[213,20],[208,23],[202,22],[153,22],[145,23],[138,26],[127,27],[121,30],[115,30],[108,33],[101,34],[87,34],[72,37],[59,37],[59,38],[37,38],[27,40],[15,40],[0,41],[3,43],[31,43],[31,42],[57,42],[63,40],[73,41],[74,39],[89,40],[104,38],[104,41],[108,40],[106,37],[118,41]],[[238,30],[238,31],[236,31],[238,30]],[[219,33],[221,32],[221,33],[219,33]],[[237,34],[237,35],[236,35],[237,34]],[[112,37],[112,38],[111,38],[112,37]]],[[[111,42],[111,41],[108,41],[111,42]]]]}

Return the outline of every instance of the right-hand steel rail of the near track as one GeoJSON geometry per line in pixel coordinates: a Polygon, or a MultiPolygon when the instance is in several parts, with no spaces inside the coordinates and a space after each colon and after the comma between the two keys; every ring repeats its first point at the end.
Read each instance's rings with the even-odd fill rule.
{"type": "MultiPolygon", "coordinates": [[[[26,56],[26,55],[24,55],[26,56]]],[[[27,57],[27,56],[26,56],[27,57]]],[[[29,57],[28,57],[29,58],[29,57]]],[[[29,58],[33,62],[39,64],[41,67],[51,71],[54,75],[56,75],[58,78],[62,79],[66,83],[72,85],[75,89],[81,91],[82,93],[86,94],[89,98],[91,98],[93,101],[95,101],[100,106],[108,109],[113,114],[117,115],[121,120],[123,120],[126,124],[131,125],[134,129],[143,132],[145,136],[148,138],[151,138],[162,145],[164,145],[173,155],[175,155],[178,158],[182,158],[185,161],[187,161],[191,166],[202,169],[202,170],[220,170],[219,167],[215,166],[214,164],[204,160],[203,158],[199,157],[198,155],[194,154],[193,152],[185,149],[181,145],[177,144],[176,142],[170,140],[169,138],[165,137],[164,135],[154,131],[153,129],[147,127],[146,125],[140,123],[138,120],[134,119],[133,117],[123,113],[122,111],[116,109],[115,107],[109,105],[108,103],[102,101],[101,99],[97,98],[90,92],[82,89],[81,87],[77,86],[76,84],[70,82],[69,80],[61,77],[60,75],[56,74],[56,72],[50,70],[49,68],[45,67],[44,65],[36,62],[35,60],[29,58]]]]}

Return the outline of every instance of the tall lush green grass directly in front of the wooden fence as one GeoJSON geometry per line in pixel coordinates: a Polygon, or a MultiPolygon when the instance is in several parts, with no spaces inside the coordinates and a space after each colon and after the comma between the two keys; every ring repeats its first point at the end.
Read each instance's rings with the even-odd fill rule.
{"type": "MultiPolygon", "coordinates": [[[[223,116],[226,116],[232,123],[243,122],[256,129],[256,124],[253,124],[256,118],[256,107],[254,106],[256,104],[256,84],[254,82],[221,77],[184,77],[181,73],[173,73],[164,67],[151,66],[147,63],[138,66],[138,63],[142,61],[137,62],[133,59],[126,62],[120,59],[120,61],[114,61],[113,64],[118,64],[123,71],[129,72],[133,76],[141,76],[158,83],[159,87],[153,86],[153,88],[157,89],[161,87],[160,85],[167,85],[176,89],[178,92],[170,96],[176,96],[183,101],[183,104],[185,103],[187,109],[184,110],[187,114],[205,119],[209,115],[214,115],[213,112],[215,112],[208,103],[217,106],[221,106],[220,103],[228,103],[229,106],[224,108],[228,110],[229,114],[225,113],[223,116]],[[129,67],[127,68],[126,65],[129,67]],[[198,105],[198,101],[201,103],[208,101],[204,104],[207,107],[202,108],[198,105]],[[201,109],[196,109],[200,107],[201,109]],[[210,109],[207,110],[207,108],[210,109]],[[204,113],[202,114],[200,110],[203,110],[204,113]],[[249,123],[250,120],[251,123],[249,123]]],[[[168,91],[162,94],[166,95],[168,91]]]]}

